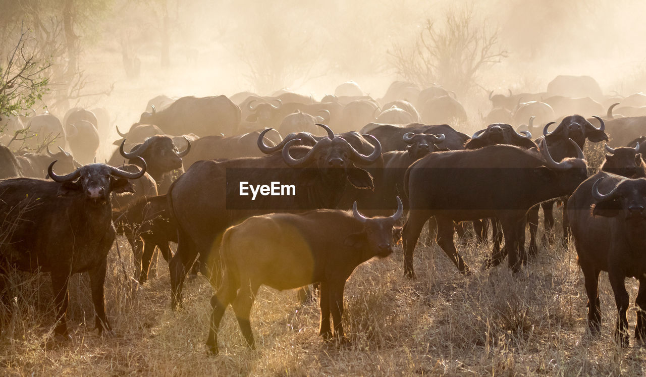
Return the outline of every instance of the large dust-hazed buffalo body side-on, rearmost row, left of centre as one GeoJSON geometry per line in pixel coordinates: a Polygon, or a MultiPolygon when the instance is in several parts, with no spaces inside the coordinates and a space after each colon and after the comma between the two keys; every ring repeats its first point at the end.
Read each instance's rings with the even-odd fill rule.
{"type": "Polygon", "coordinates": [[[141,114],[139,123],[156,125],[165,134],[198,136],[238,133],[240,108],[226,96],[182,97],[169,107],[141,114]]]}

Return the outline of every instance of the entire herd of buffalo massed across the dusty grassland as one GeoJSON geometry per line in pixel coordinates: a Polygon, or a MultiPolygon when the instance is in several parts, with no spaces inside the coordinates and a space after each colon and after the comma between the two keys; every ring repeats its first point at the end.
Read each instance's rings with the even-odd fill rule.
{"type": "Polygon", "coordinates": [[[404,81],[379,99],[353,81],[320,101],[286,90],[157,96],[127,131],[116,129],[118,148],[105,163],[96,161],[106,142],[99,135],[112,131],[105,109],[72,108],[62,121],[49,112],[0,119],[0,305],[10,309],[18,289],[12,270],[50,272],[54,334],[64,341],[70,276],[89,272],[96,327],[112,332],[103,285],[123,235],[141,284],[161,251],[172,309],[182,307],[189,272],[211,282],[209,354],[218,353],[229,305],[254,347],[249,313],[261,285],[318,284],[320,336],[346,343],[344,286],[361,263],[402,241],[402,274],[414,279],[428,223],[470,274],[454,242],[468,223],[480,248],[492,230],[485,268],[507,258],[517,274],[539,252],[540,209],[545,245],[558,246],[553,207],[562,203],[590,332],[601,325],[598,280],[607,271],[616,338],[629,345],[624,280],[632,277],[640,281],[634,336],[646,340],[646,95],[605,96],[592,77],[557,76],[545,92],[488,98],[490,112],[473,119],[450,90],[404,81]],[[583,150],[602,141],[592,150],[605,148],[605,160],[592,164],[583,150]]]}

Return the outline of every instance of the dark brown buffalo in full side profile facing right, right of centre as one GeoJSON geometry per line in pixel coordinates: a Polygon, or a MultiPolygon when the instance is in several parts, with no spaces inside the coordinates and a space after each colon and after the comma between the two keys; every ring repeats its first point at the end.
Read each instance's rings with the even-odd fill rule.
{"type": "Polygon", "coordinates": [[[577,158],[560,163],[552,159],[544,141],[541,152],[544,160],[519,147],[494,145],[436,152],[413,163],[405,178],[410,216],[403,231],[404,274],[415,276],[413,250],[431,216],[437,221],[438,245],[460,272],[469,268],[453,244],[453,221],[496,218],[505,235],[505,248],[490,263],[497,265],[509,254],[509,267],[518,270],[526,260],[527,211],[541,201],[570,194],[587,178],[580,148],[577,158]],[[516,184],[509,185],[511,181],[516,184]]]}

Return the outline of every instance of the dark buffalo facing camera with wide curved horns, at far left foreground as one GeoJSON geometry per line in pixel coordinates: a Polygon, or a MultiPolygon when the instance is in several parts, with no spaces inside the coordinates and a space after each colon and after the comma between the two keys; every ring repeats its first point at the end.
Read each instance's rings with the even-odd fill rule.
{"type": "MultiPolygon", "coordinates": [[[[128,179],[141,177],[145,167],[129,173],[92,164],[57,176],[52,172],[55,162],[48,168],[54,181],[16,178],[0,182],[0,214],[5,219],[0,232],[8,234],[0,244],[0,267],[51,273],[56,295],[54,332],[63,337],[68,336],[68,281],[73,274],[89,272],[100,334],[110,330],[103,300],[106,259],[115,234],[110,193],[132,191],[128,179]]],[[[6,284],[1,274],[0,282],[6,284]]],[[[8,292],[3,292],[3,298],[8,298],[8,292]]]]}

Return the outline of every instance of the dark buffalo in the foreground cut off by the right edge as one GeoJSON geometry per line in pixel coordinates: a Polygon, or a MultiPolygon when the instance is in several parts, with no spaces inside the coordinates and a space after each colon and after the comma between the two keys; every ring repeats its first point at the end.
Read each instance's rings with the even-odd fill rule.
{"type": "Polygon", "coordinates": [[[601,327],[598,292],[599,272],[607,271],[617,305],[616,338],[629,345],[629,296],[625,279],[636,278],[640,289],[635,338],[646,340],[646,179],[627,179],[599,172],[581,183],[568,199],[567,216],[572,227],[578,261],[588,296],[588,328],[601,327]]]}

